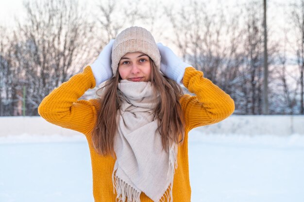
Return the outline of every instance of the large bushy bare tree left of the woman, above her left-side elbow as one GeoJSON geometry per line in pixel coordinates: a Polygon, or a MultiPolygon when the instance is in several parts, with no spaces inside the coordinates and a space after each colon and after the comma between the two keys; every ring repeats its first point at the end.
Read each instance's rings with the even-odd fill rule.
{"type": "Polygon", "coordinates": [[[76,0],[25,1],[24,8],[26,21],[14,35],[15,57],[27,115],[37,115],[41,100],[91,60],[92,25],[76,0]]]}

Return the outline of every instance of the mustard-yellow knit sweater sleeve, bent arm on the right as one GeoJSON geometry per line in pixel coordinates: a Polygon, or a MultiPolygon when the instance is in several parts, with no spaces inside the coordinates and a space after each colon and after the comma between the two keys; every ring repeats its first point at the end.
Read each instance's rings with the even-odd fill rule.
{"type": "Polygon", "coordinates": [[[196,94],[185,94],[181,97],[186,127],[189,130],[218,123],[234,112],[233,99],[208,78],[203,78],[203,72],[187,67],[183,83],[189,92],[196,94]]]}

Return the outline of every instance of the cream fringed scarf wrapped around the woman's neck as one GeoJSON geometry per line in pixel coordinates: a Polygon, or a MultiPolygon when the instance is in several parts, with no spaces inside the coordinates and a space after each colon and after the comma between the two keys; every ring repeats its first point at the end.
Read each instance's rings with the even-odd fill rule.
{"type": "Polygon", "coordinates": [[[172,144],[169,153],[163,149],[153,114],[159,95],[151,82],[121,80],[118,90],[121,107],[112,175],[117,201],[140,202],[144,192],[153,202],[172,202],[177,144],[172,144]]]}

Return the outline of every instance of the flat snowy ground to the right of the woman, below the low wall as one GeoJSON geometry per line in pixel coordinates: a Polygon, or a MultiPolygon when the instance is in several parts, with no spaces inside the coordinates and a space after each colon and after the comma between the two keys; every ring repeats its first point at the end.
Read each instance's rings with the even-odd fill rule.
{"type": "Polygon", "coordinates": [[[203,135],[189,141],[192,202],[304,202],[304,136],[203,135]]]}

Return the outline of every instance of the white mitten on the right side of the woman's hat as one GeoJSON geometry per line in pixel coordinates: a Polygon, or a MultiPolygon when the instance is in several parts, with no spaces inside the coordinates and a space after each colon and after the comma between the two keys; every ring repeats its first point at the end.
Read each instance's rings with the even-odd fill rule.
{"type": "Polygon", "coordinates": [[[160,71],[168,78],[181,84],[186,67],[192,67],[192,65],[183,62],[169,47],[165,47],[162,43],[158,43],[157,47],[161,57],[160,71]]]}

